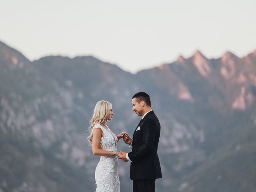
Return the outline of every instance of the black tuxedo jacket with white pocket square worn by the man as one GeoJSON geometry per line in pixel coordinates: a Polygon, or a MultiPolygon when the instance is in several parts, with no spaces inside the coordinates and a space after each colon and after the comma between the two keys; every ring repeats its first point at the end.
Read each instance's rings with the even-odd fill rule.
{"type": "Polygon", "coordinates": [[[160,123],[154,111],[150,111],[136,127],[132,137],[130,158],[130,178],[156,179],[162,178],[160,162],[157,154],[160,137],[160,123]],[[137,128],[140,126],[140,130],[137,128]]]}

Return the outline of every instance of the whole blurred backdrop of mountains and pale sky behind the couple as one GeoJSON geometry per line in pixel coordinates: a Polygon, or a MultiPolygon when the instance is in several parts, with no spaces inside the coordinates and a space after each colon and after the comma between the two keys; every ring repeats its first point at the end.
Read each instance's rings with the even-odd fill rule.
{"type": "MultiPolygon", "coordinates": [[[[0,192],[92,192],[98,100],[161,124],[159,192],[256,191],[256,2],[9,0],[0,22],[0,192]]],[[[129,152],[122,140],[118,150],[129,152]]],[[[119,161],[121,192],[132,191],[119,161]]]]}

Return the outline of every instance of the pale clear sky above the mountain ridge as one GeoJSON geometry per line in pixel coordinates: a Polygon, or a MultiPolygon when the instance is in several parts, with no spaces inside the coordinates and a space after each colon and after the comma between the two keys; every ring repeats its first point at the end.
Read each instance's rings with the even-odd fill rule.
{"type": "Polygon", "coordinates": [[[28,59],[88,56],[136,72],[200,50],[256,50],[256,0],[1,0],[0,41],[28,59]]]}

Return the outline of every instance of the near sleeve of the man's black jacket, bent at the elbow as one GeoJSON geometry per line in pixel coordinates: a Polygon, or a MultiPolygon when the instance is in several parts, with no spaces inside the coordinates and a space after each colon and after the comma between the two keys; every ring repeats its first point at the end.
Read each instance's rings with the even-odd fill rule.
{"type": "Polygon", "coordinates": [[[137,150],[128,153],[128,157],[132,162],[136,162],[154,148],[154,140],[156,136],[156,123],[151,118],[146,120],[146,126],[142,129],[142,144],[137,150]]]}

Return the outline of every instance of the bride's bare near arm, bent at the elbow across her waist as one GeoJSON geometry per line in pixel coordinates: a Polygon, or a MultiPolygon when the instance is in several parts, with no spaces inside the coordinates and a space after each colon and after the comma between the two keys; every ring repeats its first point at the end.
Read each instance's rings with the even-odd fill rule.
{"type": "Polygon", "coordinates": [[[118,152],[115,151],[106,151],[100,147],[100,138],[102,137],[103,132],[100,128],[94,128],[92,132],[92,154],[98,156],[114,156],[118,155],[118,152]]]}

